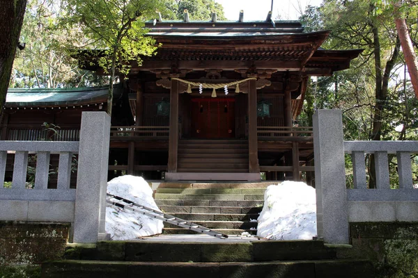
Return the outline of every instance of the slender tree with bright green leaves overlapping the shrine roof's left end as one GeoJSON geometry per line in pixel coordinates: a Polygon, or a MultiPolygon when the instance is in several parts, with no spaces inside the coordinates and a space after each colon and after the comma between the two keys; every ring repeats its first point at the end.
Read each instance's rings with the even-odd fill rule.
{"type": "Polygon", "coordinates": [[[141,64],[141,56],[154,53],[155,40],[144,36],[144,20],[162,8],[160,0],[65,0],[70,28],[81,28],[91,39],[91,48],[102,49],[98,63],[109,74],[107,113],[111,115],[116,74],[127,74],[130,62],[141,64]]]}

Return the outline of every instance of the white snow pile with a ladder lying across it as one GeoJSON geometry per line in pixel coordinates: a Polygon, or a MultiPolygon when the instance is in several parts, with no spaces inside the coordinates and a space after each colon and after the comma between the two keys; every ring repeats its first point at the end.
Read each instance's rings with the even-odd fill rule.
{"type": "MultiPolygon", "coordinates": [[[[112,179],[107,183],[107,192],[160,211],[153,199],[153,190],[142,177],[125,175],[112,179]]],[[[107,204],[106,232],[113,240],[161,234],[162,227],[161,220],[107,204]]]]}

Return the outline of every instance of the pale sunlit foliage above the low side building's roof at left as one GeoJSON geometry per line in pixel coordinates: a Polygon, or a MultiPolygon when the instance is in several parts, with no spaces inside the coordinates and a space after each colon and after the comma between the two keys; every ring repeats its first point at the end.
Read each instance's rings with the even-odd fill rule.
{"type": "Polygon", "coordinates": [[[59,3],[52,0],[29,0],[26,5],[20,41],[26,43],[17,51],[9,86],[11,88],[62,88],[100,85],[102,77],[79,70],[70,57],[68,42],[83,42],[75,29],[57,26],[62,15],[59,3]]]}

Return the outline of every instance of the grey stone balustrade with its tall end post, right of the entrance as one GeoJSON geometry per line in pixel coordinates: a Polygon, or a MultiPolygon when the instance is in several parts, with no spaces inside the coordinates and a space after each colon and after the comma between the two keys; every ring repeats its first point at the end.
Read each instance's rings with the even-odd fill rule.
{"type": "Polygon", "coordinates": [[[417,141],[344,141],[341,111],[314,115],[314,155],[318,236],[327,243],[348,243],[349,222],[418,222],[410,154],[417,141]],[[344,155],[353,161],[354,188],[347,189],[344,155]],[[374,154],[376,188],[366,184],[365,154],[374,154]],[[389,183],[388,154],[396,154],[399,188],[389,183]]]}

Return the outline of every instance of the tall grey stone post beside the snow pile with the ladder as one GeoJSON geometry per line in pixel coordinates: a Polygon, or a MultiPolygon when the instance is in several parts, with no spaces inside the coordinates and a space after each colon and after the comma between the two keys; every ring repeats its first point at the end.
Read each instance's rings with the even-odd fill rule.
{"type": "Polygon", "coordinates": [[[109,135],[107,113],[83,112],[75,199],[75,243],[95,243],[105,235],[109,135]]]}

